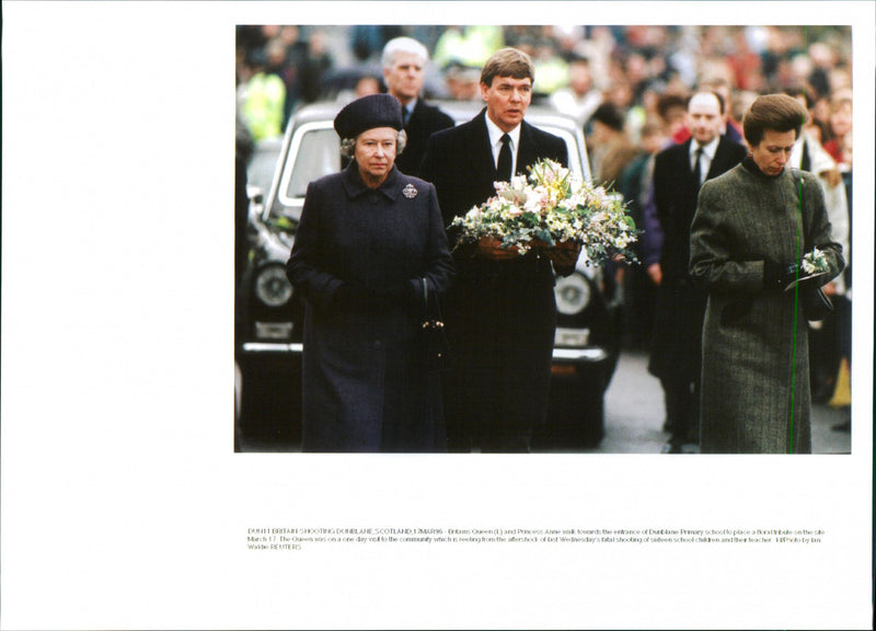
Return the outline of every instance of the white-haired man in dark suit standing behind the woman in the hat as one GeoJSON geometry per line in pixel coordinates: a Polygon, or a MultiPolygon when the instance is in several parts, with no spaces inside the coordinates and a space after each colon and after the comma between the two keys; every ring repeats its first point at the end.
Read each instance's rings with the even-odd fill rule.
{"type": "Polygon", "coordinates": [[[407,142],[395,158],[395,165],[405,175],[419,175],[419,163],[426,140],[435,131],[453,126],[453,119],[422,97],[423,80],[429,51],[411,37],[387,42],[382,55],[383,81],[387,91],[402,103],[407,142]]]}

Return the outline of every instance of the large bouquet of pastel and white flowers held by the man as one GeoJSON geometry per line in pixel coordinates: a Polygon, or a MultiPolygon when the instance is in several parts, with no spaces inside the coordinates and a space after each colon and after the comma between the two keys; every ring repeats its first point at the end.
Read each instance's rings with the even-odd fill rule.
{"type": "Polygon", "coordinates": [[[619,196],[572,173],[553,160],[540,160],[529,176],[496,182],[496,195],[453,219],[458,246],[493,242],[526,254],[533,248],[580,246],[588,261],[614,254],[634,261],[629,246],[636,227],[619,196]]]}

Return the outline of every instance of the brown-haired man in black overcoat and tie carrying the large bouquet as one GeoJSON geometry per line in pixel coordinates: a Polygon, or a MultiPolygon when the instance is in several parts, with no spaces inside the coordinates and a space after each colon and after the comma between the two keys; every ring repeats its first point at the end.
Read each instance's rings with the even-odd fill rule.
{"type": "MultiPolygon", "coordinates": [[[[523,121],[533,78],[528,55],[499,50],[481,72],[486,107],[429,138],[420,176],[435,184],[446,226],[494,195],[494,182],[526,174],[539,159],[567,164],[565,142],[523,121]]],[[[456,234],[449,237],[452,244],[456,234]]],[[[575,260],[473,246],[458,248],[454,259],[457,282],[445,310],[449,449],[527,452],[548,409],[556,328],[552,260],[563,274],[575,260]]]]}

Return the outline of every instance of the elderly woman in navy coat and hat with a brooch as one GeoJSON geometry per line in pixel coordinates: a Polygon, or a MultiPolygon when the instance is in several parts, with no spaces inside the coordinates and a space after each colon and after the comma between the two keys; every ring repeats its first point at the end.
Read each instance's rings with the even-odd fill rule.
{"type": "Polygon", "coordinates": [[[442,451],[439,374],[420,337],[427,290],[441,295],[453,263],[435,187],[394,165],[399,101],[374,94],[338,113],[353,158],[308,187],[287,264],[307,300],[306,451],[442,451]]]}

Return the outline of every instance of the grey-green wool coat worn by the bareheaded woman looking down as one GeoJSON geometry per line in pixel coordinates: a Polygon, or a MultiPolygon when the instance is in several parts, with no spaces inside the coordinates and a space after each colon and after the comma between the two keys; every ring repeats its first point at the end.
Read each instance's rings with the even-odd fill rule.
{"type": "Polygon", "coordinates": [[[785,169],[764,175],[751,158],[700,192],[691,276],[708,291],[703,326],[701,451],[808,454],[808,332],[797,291],[768,290],[763,262],[799,262],[805,238],[823,251],[828,283],[843,268],[821,187],[785,169]]]}

